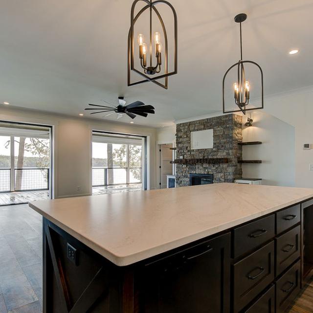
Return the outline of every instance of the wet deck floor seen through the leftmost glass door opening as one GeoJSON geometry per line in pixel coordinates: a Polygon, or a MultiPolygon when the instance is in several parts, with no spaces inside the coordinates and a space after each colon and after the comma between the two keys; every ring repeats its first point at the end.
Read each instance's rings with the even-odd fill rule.
{"type": "Polygon", "coordinates": [[[48,190],[34,191],[15,191],[0,193],[0,205],[21,204],[36,200],[47,200],[49,198],[48,190]]]}

